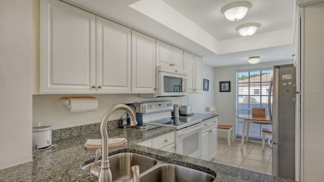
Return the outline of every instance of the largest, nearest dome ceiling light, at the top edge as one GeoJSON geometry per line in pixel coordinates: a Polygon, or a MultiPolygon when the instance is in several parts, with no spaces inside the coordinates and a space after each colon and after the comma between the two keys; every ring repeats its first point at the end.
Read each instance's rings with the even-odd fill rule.
{"type": "Polygon", "coordinates": [[[222,9],[222,13],[229,21],[237,21],[245,17],[251,4],[248,2],[236,2],[226,5],[222,9]]]}

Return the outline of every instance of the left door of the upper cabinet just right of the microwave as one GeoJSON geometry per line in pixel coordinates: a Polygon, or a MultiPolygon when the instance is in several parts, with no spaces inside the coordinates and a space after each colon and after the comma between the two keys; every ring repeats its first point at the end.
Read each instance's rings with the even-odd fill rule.
{"type": "Polygon", "coordinates": [[[185,51],[183,62],[188,74],[188,93],[194,93],[194,55],[185,51]]]}

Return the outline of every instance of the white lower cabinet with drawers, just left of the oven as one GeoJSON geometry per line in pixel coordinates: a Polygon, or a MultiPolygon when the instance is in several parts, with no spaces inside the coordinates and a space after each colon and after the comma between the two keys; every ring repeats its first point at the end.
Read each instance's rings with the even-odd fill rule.
{"type": "Polygon", "coordinates": [[[175,153],[175,132],[170,132],[152,139],[137,143],[145,147],[175,153]]]}

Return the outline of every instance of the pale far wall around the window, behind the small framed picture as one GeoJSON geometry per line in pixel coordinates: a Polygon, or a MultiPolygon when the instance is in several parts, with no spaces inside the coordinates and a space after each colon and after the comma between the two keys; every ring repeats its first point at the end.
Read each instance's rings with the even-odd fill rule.
{"type": "MultiPolygon", "coordinates": [[[[245,64],[236,66],[215,67],[215,98],[218,124],[234,126],[234,135],[236,135],[236,70],[272,67],[273,65],[292,64],[293,60],[276,61],[258,64],[245,64]],[[219,82],[230,81],[230,92],[219,92],[219,82]]],[[[219,132],[219,137],[227,137],[226,132],[219,132]]]]}

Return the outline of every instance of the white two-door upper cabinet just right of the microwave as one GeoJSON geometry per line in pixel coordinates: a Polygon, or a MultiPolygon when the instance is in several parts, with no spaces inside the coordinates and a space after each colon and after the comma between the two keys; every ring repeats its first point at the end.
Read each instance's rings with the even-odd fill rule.
{"type": "Polygon", "coordinates": [[[184,51],[183,62],[188,73],[188,93],[203,92],[203,59],[184,51]]]}

